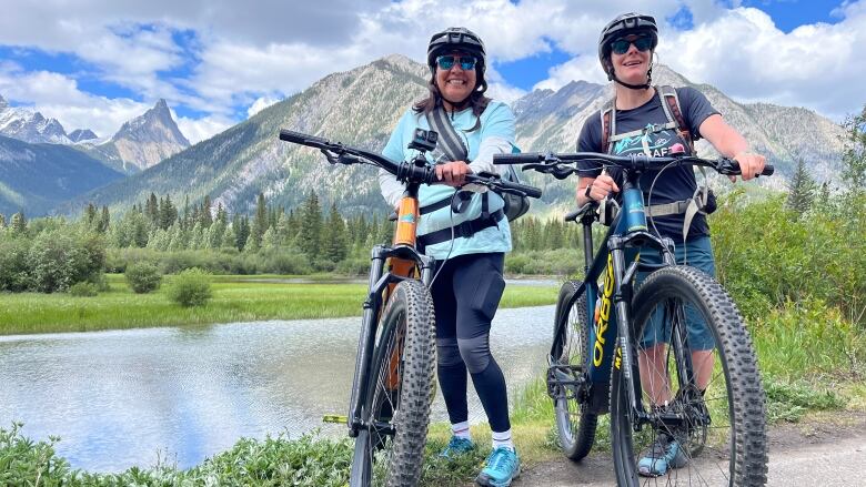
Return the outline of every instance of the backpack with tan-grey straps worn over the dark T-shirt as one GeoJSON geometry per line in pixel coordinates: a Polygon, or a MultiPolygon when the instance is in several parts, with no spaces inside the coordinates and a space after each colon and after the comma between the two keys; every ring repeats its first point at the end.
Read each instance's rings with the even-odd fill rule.
{"type": "MultiPolygon", "coordinates": [[[[613,153],[614,144],[625,138],[643,135],[644,133],[655,133],[667,129],[674,129],[686,143],[686,151],[689,155],[695,153],[694,141],[699,136],[694,135],[688,130],[688,124],[683,116],[683,110],[679,108],[679,97],[676,94],[676,89],[669,85],[656,85],[655,87],[658,97],[662,99],[662,110],[665,112],[667,123],[655,124],[651,128],[633,130],[626,133],[615,134],[616,132],[616,99],[613,98],[607,103],[607,106],[602,110],[602,146],[608,154],[613,153]]],[[[703,166],[698,166],[701,173],[706,180],[706,171],[703,166]]],[[[675,201],[666,204],[654,204],[646,206],[647,216],[667,216],[674,214],[685,214],[683,223],[683,241],[685,242],[688,236],[688,229],[692,226],[692,220],[695,214],[703,213],[709,214],[716,210],[716,196],[706,186],[698,185],[695,190],[695,194],[688,200],[675,201]]]]}

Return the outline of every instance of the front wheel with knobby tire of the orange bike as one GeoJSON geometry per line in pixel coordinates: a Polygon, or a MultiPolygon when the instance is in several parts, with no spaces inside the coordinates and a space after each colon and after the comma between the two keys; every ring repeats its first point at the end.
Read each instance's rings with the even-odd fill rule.
{"type": "Polygon", "coordinates": [[[433,300],[421,282],[403,281],[394,287],[377,334],[350,485],[415,486],[435,366],[433,300]]]}

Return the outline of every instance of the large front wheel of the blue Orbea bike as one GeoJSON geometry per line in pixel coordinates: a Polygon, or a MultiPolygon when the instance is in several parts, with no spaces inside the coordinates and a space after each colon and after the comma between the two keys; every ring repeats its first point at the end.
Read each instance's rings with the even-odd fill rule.
{"type": "Polygon", "coordinates": [[[727,293],[696,268],[665,267],[646,278],[632,311],[632,372],[647,416],[642,422],[634,415],[622,371],[614,367],[617,484],[765,485],[764,390],[752,339],[727,293]],[[709,345],[689,333],[696,319],[706,323],[709,345]],[[665,458],[652,459],[658,457],[665,458]]]}

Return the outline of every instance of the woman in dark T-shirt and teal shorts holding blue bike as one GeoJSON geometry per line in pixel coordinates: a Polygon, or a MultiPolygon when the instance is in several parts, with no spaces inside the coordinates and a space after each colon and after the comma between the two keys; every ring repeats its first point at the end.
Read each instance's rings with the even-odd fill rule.
{"type": "MultiPolygon", "coordinates": [[[[653,52],[657,43],[658,30],[655,19],[650,16],[626,13],[611,21],[602,30],[598,59],[607,79],[613,81],[613,104],[610,111],[600,111],[586,120],[577,141],[577,150],[617,155],[666,155],[675,144],[692,150],[693,140],[703,136],[718,153],[739,163],[744,181],[761,174],[764,156],[748,151],[748,144],[743,136],[725,123],[701,92],[692,88],[678,88],[674,97],[673,91],[651,84],[653,52]],[[659,95],[659,91],[669,94],[659,95]],[[677,118],[682,122],[671,120],[672,116],[667,114],[676,111],[681,113],[677,118]],[[614,122],[611,121],[612,118],[614,122]]],[[[583,169],[594,169],[595,172],[594,175],[580,179],[578,205],[590,200],[602,201],[608,194],[620,191],[621,171],[614,169],[607,174],[597,166],[586,165],[583,169]]],[[[687,205],[678,204],[705,203],[705,199],[701,197],[697,191],[692,168],[665,170],[655,181],[650,201],[647,192],[657,174],[658,172],[646,172],[641,175],[644,200],[652,205],[650,212],[655,215],[655,227],[662,236],[671,237],[675,242],[677,263],[692,265],[715,275],[709,227],[704,212],[689,219],[686,213],[681,213],[687,205]]],[[[736,181],[736,177],[732,176],[732,181],[736,181]]],[[[661,256],[657,252],[642,250],[641,261],[658,263],[661,256]]],[[[645,277],[645,274],[638,275],[638,282],[645,277]]],[[[697,386],[703,393],[709,383],[715,344],[702,318],[689,316],[688,339],[697,386]]],[[[650,395],[653,406],[658,408],[664,407],[671,399],[666,381],[656,372],[664,369],[665,352],[666,344],[662,332],[648,329],[642,337],[638,365],[642,386],[650,395]]],[[[641,455],[638,473],[645,476],[665,475],[669,468],[679,468],[686,463],[677,440],[659,432],[656,440],[641,455]]]]}

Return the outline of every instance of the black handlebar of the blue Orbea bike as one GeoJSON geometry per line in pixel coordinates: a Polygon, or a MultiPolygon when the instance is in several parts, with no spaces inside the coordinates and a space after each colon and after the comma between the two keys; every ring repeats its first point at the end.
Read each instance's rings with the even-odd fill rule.
{"type": "MultiPolygon", "coordinates": [[[[650,158],[644,154],[633,155],[611,155],[597,152],[574,152],[574,153],[548,153],[526,152],[522,154],[495,154],[494,164],[526,164],[526,169],[533,169],[538,172],[550,173],[557,179],[564,179],[571,174],[582,172],[594,172],[595,170],[581,170],[576,166],[570,166],[568,163],[577,161],[592,161],[607,163],[626,170],[661,170],[668,164],[691,164],[703,165],[716,170],[719,174],[738,175],[739,163],[734,159],[702,159],[693,155],[674,155],[663,158],[650,158]]],[[[773,164],[764,165],[761,175],[772,175],[775,172],[773,164]]]]}

